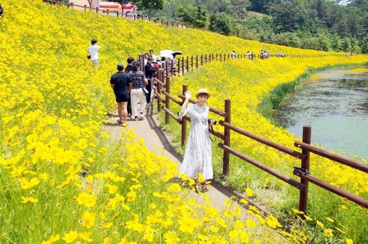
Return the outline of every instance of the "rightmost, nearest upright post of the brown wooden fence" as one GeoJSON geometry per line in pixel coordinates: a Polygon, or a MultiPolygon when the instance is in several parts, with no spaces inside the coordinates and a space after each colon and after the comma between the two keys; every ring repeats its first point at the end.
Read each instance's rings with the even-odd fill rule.
{"type": "MultiPolygon", "coordinates": [[[[311,136],[312,136],[311,125],[304,125],[303,126],[303,142],[311,144],[311,136]]],[[[307,157],[304,160],[302,160],[302,168],[305,168],[309,171],[310,152],[303,149],[302,154],[307,155],[307,157]]],[[[304,189],[304,191],[300,191],[300,194],[299,194],[299,211],[302,211],[305,214],[307,214],[308,181],[301,178],[300,183],[304,184],[306,188],[304,189]]],[[[303,216],[301,217],[303,218],[303,216]]]]}

